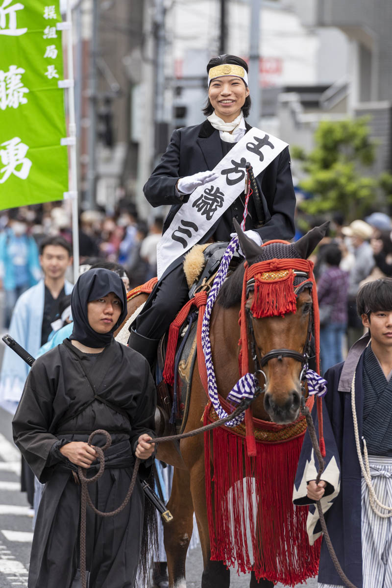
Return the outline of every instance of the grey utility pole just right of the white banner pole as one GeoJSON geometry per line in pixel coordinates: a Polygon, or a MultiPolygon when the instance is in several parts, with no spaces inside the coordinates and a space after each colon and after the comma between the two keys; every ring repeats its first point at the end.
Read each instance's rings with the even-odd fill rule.
{"type": "Polygon", "coordinates": [[[96,191],[96,102],[97,102],[97,53],[98,53],[98,26],[99,26],[99,0],[92,0],[92,31],[90,45],[90,88],[89,88],[89,132],[88,132],[88,170],[87,170],[87,199],[86,204],[90,210],[95,209],[96,191]]]}

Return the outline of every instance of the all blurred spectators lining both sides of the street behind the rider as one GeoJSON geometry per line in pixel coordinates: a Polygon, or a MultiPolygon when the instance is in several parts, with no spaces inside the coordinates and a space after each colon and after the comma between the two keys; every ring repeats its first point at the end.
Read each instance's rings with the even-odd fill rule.
{"type": "MultiPolygon", "coordinates": [[[[314,219],[313,226],[324,219],[314,219]]],[[[79,219],[79,262],[120,263],[129,277],[129,288],[156,275],[156,245],[163,218],[139,219],[135,206],[120,202],[113,215],[84,211],[79,219]]],[[[311,228],[311,227],[310,227],[311,228]]],[[[320,305],[322,368],[343,360],[347,349],[363,333],[356,312],[360,286],[381,276],[392,276],[392,222],[383,212],[345,222],[331,217],[328,236],[314,255],[314,273],[320,305]]],[[[0,212],[0,292],[8,328],[16,299],[42,277],[39,242],[61,235],[72,242],[71,209],[66,203],[15,208],[0,212]]],[[[296,238],[300,233],[296,235],[296,238]]],[[[66,276],[72,281],[72,268],[66,276]]]]}

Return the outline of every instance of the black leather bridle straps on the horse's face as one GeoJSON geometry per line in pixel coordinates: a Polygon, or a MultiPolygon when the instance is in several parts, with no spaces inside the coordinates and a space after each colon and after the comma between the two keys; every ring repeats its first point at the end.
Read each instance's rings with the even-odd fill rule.
{"type": "MultiPolygon", "coordinates": [[[[313,282],[309,279],[309,274],[307,272],[301,272],[300,270],[294,269],[293,273],[296,276],[304,278],[303,282],[301,282],[299,285],[294,287],[294,293],[295,293],[296,297],[298,298],[298,296],[300,295],[302,290],[304,290],[305,288],[311,288],[313,286],[313,282]]],[[[246,298],[248,297],[249,292],[251,292],[253,289],[254,289],[254,278],[247,280],[247,282],[246,282],[246,298]]],[[[294,349],[286,349],[286,348],[272,349],[271,351],[269,351],[268,353],[265,353],[264,355],[262,355],[259,358],[259,353],[257,353],[259,348],[257,347],[256,337],[254,335],[252,319],[253,319],[252,312],[250,311],[249,308],[247,308],[246,309],[246,323],[247,323],[247,330],[250,332],[250,335],[251,335],[251,337],[250,337],[250,350],[252,353],[252,358],[253,358],[253,363],[254,363],[254,372],[261,373],[264,376],[264,390],[267,385],[267,376],[263,370],[264,366],[266,366],[267,363],[271,359],[277,359],[278,361],[282,361],[283,358],[292,358],[292,359],[295,359],[301,363],[302,369],[301,369],[301,373],[299,376],[299,382],[300,382],[301,390],[304,392],[304,380],[305,380],[306,372],[309,369],[310,340],[311,340],[311,333],[312,333],[312,326],[313,326],[313,312],[312,312],[312,310],[310,310],[310,313],[309,313],[309,322],[307,325],[306,341],[305,341],[302,353],[300,353],[294,349]]],[[[262,390],[262,391],[264,391],[264,390],[262,390]]]]}

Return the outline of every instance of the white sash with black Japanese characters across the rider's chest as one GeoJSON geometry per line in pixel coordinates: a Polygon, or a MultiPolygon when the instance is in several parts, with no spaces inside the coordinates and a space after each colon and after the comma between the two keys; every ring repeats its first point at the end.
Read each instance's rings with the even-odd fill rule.
{"type": "Polygon", "coordinates": [[[156,248],[158,278],[175,259],[199,242],[238,198],[245,186],[245,164],[259,175],[287,146],[273,135],[252,128],[213,169],[219,177],[199,186],[176,213],[156,248]]]}

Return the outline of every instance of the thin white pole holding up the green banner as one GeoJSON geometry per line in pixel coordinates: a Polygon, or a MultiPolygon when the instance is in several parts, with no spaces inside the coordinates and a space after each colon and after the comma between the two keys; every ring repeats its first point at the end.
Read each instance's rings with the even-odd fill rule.
{"type": "Polygon", "coordinates": [[[76,158],[76,124],[75,124],[75,91],[73,79],[73,40],[72,40],[72,9],[71,0],[66,1],[66,19],[69,24],[67,31],[67,62],[68,79],[71,82],[68,88],[68,136],[73,138],[69,146],[71,163],[70,186],[72,199],[72,249],[73,249],[73,281],[76,282],[79,275],[79,211],[78,211],[78,168],[76,158]]]}

